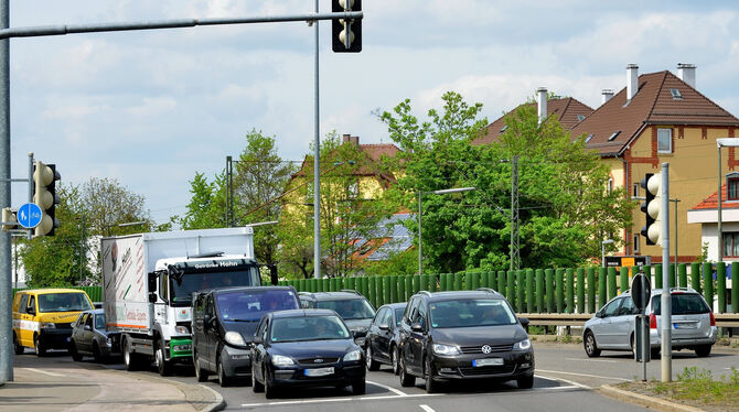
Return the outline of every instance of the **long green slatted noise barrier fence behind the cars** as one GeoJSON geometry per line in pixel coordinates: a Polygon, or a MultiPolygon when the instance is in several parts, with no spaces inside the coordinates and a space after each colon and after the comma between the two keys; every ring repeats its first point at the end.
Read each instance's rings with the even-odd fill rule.
{"type": "MultiPolygon", "coordinates": [[[[395,274],[280,281],[299,292],[352,289],[379,307],[406,302],[418,291],[470,291],[490,288],[502,293],[517,312],[595,313],[609,300],[628,290],[634,273],[652,279],[652,289],[662,288],[662,264],[633,268],[546,268],[517,271],[467,271],[436,274],[395,274]],[[334,286],[335,284],[335,286],[334,286]],[[325,286],[322,286],[325,285],[325,286]],[[329,286],[330,285],[330,286],[329,286]]],[[[693,288],[701,293],[716,313],[739,313],[739,262],[681,263],[670,267],[670,284],[693,288]],[[726,273],[726,277],[716,275],[726,273]],[[731,302],[737,304],[731,305],[731,302]]]]}

